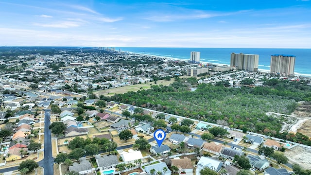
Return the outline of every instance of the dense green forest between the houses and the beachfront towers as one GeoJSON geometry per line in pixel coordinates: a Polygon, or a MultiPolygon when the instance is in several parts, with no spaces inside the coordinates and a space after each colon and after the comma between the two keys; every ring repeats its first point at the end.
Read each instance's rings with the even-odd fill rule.
{"type": "Polygon", "coordinates": [[[197,85],[195,78],[175,78],[171,86],[116,94],[110,100],[210,123],[225,121],[234,128],[285,139],[279,133],[282,121],[266,112],[290,114],[299,101],[311,101],[308,81],[264,79],[263,87],[225,88],[224,85],[197,85]],[[191,87],[197,87],[190,91],[191,87]]]}

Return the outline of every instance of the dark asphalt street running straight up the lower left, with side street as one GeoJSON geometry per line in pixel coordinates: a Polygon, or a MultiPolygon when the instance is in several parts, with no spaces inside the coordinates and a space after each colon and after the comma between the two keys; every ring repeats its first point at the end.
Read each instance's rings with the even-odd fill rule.
{"type": "MultiPolygon", "coordinates": [[[[44,114],[44,158],[39,161],[39,166],[43,167],[44,175],[53,174],[54,159],[52,157],[52,140],[50,126],[51,109],[46,109],[44,114]]],[[[17,170],[18,166],[0,169],[0,173],[11,172],[17,170]]]]}

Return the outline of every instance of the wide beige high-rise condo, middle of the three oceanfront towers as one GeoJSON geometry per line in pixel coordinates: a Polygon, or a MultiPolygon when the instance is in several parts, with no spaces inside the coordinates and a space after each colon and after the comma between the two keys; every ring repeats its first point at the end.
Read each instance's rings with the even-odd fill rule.
{"type": "Polygon", "coordinates": [[[230,67],[240,70],[258,71],[259,55],[231,53],[230,67]]]}

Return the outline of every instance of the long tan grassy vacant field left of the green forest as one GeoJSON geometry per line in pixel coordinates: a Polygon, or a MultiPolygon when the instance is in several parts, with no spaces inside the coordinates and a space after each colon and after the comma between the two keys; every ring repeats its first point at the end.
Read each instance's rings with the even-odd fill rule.
{"type": "Polygon", "coordinates": [[[163,86],[168,86],[174,82],[174,78],[171,78],[170,81],[167,80],[158,80],[155,82],[147,82],[146,84],[137,84],[137,85],[130,85],[130,86],[125,86],[125,87],[119,87],[119,88],[111,88],[111,89],[104,89],[104,90],[99,90],[95,91],[94,94],[96,95],[105,95],[105,96],[113,96],[114,94],[122,94],[126,93],[129,91],[138,91],[140,88],[142,89],[149,89],[151,85],[163,85],[163,86]]]}

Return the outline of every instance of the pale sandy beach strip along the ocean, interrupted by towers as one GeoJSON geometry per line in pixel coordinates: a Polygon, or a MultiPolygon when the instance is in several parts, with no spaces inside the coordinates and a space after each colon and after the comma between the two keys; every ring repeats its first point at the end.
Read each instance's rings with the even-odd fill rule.
{"type": "MultiPolygon", "coordinates": [[[[131,53],[131,54],[138,54],[138,55],[146,55],[146,56],[154,56],[154,57],[159,57],[159,58],[163,58],[165,60],[172,60],[172,61],[184,61],[184,62],[188,62],[189,59],[182,59],[182,58],[174,58],[174,57],[169,57],[169,56],[159,56],[159,55],[152,55],[152,54],[146,54],[146,53],[134,53],[134,52],[127,52],[127,53],[131,53]]],[[[216,66],[228,66],[228,64],[220,64],[220,63],[211,63],[211,62],[205,62],[205,61],[200,61],[201,64],[211,64],[211,65],[216,65],[216,66]]],[[[270,66],[269,66],[270,68],[270,66]]],[[[266,69],[258,69],[258,72],[262,72],[262,73],[270,73],[270,69],[266,70],[266,69]]],[[[301,76],[301,77],[307,77],[307,78],[311,78],[311,74],[306,74],[306,73],[297,73],[294,72],[294,76],[301,76]]]]}

